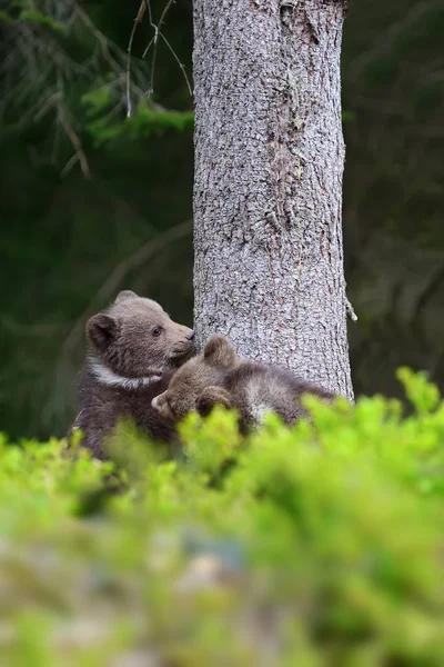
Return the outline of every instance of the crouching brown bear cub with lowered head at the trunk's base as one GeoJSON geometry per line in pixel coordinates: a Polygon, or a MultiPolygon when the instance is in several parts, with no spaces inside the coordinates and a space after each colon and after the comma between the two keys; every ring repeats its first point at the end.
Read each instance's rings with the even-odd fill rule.
{"type": "Polygon", "coordinates": [[[289,425],[306,416],[301,404],[304,394],[334,398],[289,370],[241,359],[225,338],[212,336],[203,352],[186,361],[168,389],[153,398],[152,406],[164,419],[175,422],[191,410],[205,416],[216,404],[223,405],[238,410],[240,429],[245,434],[258,427],[268,411],[289,425]]]}

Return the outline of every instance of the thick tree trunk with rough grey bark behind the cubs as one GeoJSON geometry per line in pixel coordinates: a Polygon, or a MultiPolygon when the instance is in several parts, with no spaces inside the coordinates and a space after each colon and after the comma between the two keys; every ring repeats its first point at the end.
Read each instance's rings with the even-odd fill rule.
{"type": "Polygon", "coordinates": [[[345,1],[193,0],[194,320],[353,397],[343,270],[345,1]]]}

